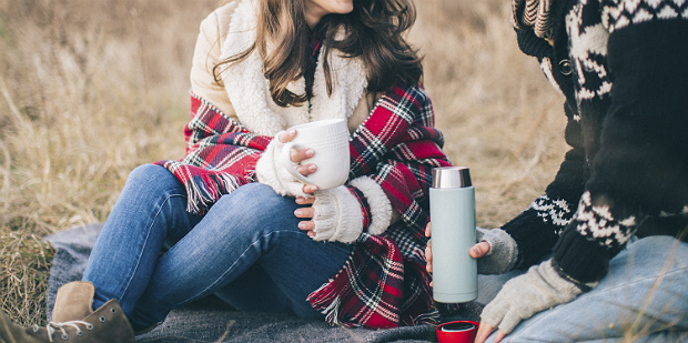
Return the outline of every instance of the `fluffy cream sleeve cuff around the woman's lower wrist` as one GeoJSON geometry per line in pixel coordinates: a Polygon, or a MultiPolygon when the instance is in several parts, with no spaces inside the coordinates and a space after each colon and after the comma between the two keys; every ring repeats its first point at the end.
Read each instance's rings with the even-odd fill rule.
{"type": "MultiPolygon", "coordinates": [[[[361,176],[348,183],[364,195],[364,201],[368,204],[370,224],[367,232],[374,235],[383,234],[392,224],[392,203],[382,186],[368,176],[361,176]]],[[[362,211],[365,210],[364,202],[361,201],[362,211]]]]}

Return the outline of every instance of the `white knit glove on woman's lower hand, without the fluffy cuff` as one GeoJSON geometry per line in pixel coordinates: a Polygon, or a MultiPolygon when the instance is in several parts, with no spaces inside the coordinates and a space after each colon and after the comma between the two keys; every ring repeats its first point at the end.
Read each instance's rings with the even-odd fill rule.
{"type": "Polygon", "coordinates": [[[363,232],[361,203],[345,185],[316,192],[313,210],[315,241],[352,243],[363,232]]]}

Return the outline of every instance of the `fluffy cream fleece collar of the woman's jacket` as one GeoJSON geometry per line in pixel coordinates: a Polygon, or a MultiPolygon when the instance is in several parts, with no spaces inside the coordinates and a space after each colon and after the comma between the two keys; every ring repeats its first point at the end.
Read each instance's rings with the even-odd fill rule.
{"type": "MultiPolygon", "coordinates": [[[[221,60],[245,51],[255,42],[257,8],[256,0],[242,0],[237,4],[222,44],[221,60]]],[[[289,127],[310,121],[348,119],[367,87],[363,61],[358,58],[346,59],[337,51],[332,51],[328,61],[334,90],[332,95],[327,95],[323,58],[324,54],[321,53],[310,107],[304,104],[282,108],[272,100],[257,50],[242,62],[225,68],[221,73],[222,81],[239,121],[253,133],[275,135],[289,127]]],[[[305,93],[304,78],[292,82],[289,90],[296,94],[305,93]]]]}

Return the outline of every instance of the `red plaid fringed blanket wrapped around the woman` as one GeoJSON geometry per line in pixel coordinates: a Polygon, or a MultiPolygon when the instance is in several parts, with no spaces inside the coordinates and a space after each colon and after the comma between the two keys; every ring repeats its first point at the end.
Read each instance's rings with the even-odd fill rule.
{"type": "MultiPolygon", "coordinates": [[[[272,138],[252,134],[193,93],[191,102],[186,157],[156,164],[186,185],[190,211],[205,211],[254,181],[255,163],[272,138]]],[[[375,180],[402,220],[382,235],[363,233],[343,269],[311,293],[308,301],[331,324],[377,329],[436,320],[423,231],[432,169],[449,165],[443,144],[421,87],[387,91],[352,135],[350,180],[375,180]]]]}

